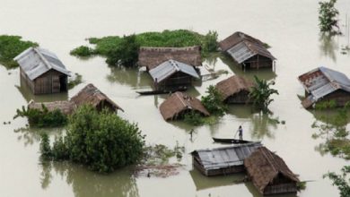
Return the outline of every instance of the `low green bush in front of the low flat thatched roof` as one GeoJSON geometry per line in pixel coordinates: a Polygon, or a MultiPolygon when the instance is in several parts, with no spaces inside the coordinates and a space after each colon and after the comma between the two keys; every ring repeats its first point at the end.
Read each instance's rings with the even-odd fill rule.
{"type": "Polygon", "coordinates": [[[13,119],[21,116],[27,117],[30,126],[32,127],[57,127],[63,126],[67,123],[67,116],[64,115],[59,109],[53,111],[48,111],[48,107],[41,104],[42,109],[22,107],[17,109],[16,115],[13,116],[13,119]]]}

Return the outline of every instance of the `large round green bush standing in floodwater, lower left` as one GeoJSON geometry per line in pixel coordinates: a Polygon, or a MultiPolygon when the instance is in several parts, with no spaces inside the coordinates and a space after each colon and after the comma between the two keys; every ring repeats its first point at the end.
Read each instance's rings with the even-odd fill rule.
{"type": "Polygon", "coordinates": [[[52,147],[48,144],[43,137],[42,158],[69,160],[104,173],[135,164],[144,155],[144,135],[137,124],[92,106],[79,107],[68,118],[66,135],[58,137],[52,147]]]}

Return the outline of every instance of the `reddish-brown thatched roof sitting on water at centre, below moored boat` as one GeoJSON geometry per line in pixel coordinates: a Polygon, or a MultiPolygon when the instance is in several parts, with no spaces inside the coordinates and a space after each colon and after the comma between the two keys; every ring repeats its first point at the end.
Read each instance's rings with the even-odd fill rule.
{"type": "Polygon", "coordinates": [[[195,110],[203,116],[210,115],[200,100],[189,97],[187,94],[179,91],[173,93],[171,97],[166,99],[160,106],[164,120],[176,119],[181,112],[188,109],[195,110]]]}

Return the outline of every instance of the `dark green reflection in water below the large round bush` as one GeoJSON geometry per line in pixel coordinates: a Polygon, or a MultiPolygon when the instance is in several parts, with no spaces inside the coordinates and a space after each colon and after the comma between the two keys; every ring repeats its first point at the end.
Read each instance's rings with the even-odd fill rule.
{"type": "Polygon", "coordinates": [[[39,178],[43,189],[49,187],[53,177],[61,176],[72,185],[75,197],[139,196],[136,178],[128,168],[101,175],[69,162],[44,162],[41,167],[39,178]]]}

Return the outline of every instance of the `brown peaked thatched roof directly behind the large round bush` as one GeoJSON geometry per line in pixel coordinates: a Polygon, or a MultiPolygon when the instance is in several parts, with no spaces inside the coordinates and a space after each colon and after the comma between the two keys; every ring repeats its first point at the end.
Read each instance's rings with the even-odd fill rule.
{"type": "Polygon", "coordinates": [[[109,99],[101,90],[97,89],[92,83],[86,85],[82,90],[80,90],[72,99],[78,107],[83,104],[90,104],[93,107],[100,107],[109,105],[113,110],[120,109],[124,111],[121,107],[113,102],[113,100],[109,99]]]}

